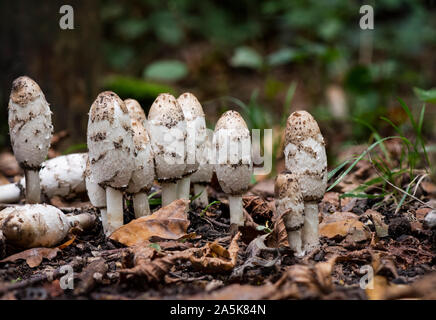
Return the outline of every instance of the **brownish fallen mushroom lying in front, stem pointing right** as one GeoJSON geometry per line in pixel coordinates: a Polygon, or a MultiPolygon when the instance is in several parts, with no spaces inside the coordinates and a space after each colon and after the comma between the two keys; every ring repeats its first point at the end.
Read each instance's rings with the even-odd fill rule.
{"type": "Polygon", "coordinates": [[[93,227],[89,213],[66,215],[48,204],[26,204],[0,211],[0,229],[7,243],[21,248],[53,247],[72,227],[93,227]]]}

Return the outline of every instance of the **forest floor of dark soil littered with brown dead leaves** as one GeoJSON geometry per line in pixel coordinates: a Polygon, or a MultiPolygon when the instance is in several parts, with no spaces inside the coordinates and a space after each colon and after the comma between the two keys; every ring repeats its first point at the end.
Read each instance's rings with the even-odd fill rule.
{"type": "MultiPolygon", "coordinates": [[[[7,152],[0,156],[1,184],[18,179],[13,159],[7,152]]],[[[6,246],[0,298],[436,299],[436,230],[423,226],[428,204],[435,207],[436,186],[421,183],[417,200],[406,201],[397,213],[390,198],[340,197],[372,170],[361,161],[325,194],[320,247],[303,258],[287,248],[284,226],[275,218],[272,179],[244,195],[246,225],[236,234],[229,230],[226,196],[213,181],[210,203],[217,202],[206,210],[185,212],[187,203],[178,200],[160,210],[152,206],[155,213],[139,221],[127,201],[125,222],[131,223],[111,239],[97,222],[91,231],[73,230],[57,248],[6,246]],[[62,289],[66,265],[74,283],[62,289]]],[[[86,195],[47,201],[66,213],[97,214],[86,195]]]]}

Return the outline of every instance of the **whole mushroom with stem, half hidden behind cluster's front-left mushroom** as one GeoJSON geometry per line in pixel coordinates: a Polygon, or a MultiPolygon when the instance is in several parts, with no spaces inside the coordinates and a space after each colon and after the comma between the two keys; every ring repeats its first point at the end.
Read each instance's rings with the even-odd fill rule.
{"type": "Polygon", "coordinates": [[[127,188],[127,193],[133,194],[133,210],[139,218],[150,214],[147,192],[154,181],[154,160],[150,138],[145,130],[146,117],[138,101],[127,99],[124,101],[129,110],[130,122],[133,129],[135,144],[135,168],[127,188]]]}

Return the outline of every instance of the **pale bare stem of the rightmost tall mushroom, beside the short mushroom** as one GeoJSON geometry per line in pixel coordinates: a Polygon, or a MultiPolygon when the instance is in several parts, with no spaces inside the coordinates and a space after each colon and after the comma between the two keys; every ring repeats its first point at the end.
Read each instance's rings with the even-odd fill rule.
{"type": "Polygon", "coordinates": [[[306,252],[310,252],[319,246],[318,224],[318,203],[305,202],[302,239],[303,249],[306,252]]]}

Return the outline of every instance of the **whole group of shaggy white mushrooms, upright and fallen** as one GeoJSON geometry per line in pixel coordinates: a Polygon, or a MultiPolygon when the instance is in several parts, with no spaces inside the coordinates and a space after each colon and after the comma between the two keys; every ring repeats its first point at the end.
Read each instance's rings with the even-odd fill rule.
{"type": "MultiPolygon", "coordinates": [[[[242,194],[248,190],[253,162],[250,132],[236,111],[225,112],[212,133],[192,93],[177,99],[160,94],[146,117],[136,100],[123,101],[105,91],[89,111],[88,153],[44,162],[53,131],[51,111],[37,83],[23,76],[12,85],[9,127],[12,148],[25,178],[0,186],[0,203],[18,201],[24,191],[27,204],[0,212],[0,233],[7,241],[25,236],[17,222],[25,215],[29,216],[28,229],[33,227],[32,218],[41,216],[38,219],[46,221],[46,233],[53,226],[68,229],[90,224],[89,216],[68,216],[54,206],[38,204],[41,194],[68,197],[86,190],[109,236],[124,223],[124,195],[132,196],[136,218],[150,214],[147,193],[155,180],[161,185],[162,206],[189,199],[193,184],[195,205],[205,207],[205,187],[214,172],[228,195],[231,226],[244,225],[242,194]],[[54,217],[62,222],[55,222],[54,217]]],[[[324,139],[306,111],[289,116],[284,154],[286,171],[275,182],[276,213],[283,219],[290,247],[302,256],[318,245],[318,202],[327,185],[324,139]]],[[[35,231],[30,245],[24,240],[14,243],[48,245],[39,241],[41,237],[47,235],[35,231]]],[[[61,241],[61,237],[52,242],[61,241]]]]}

